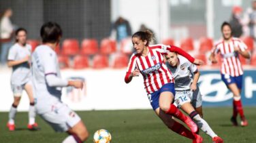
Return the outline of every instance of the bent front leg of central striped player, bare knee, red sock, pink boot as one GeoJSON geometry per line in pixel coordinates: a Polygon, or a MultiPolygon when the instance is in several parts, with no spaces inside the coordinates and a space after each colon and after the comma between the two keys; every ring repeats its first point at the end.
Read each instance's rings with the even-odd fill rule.
{"type": "Polygon", "coordinates": [[[186,123],[192,132],[197,132],[197,125],[195,125],[195,123],[189,117],[185,116],[180,110],[178,110],[178,108],[174,104],[172,104],[173,101],[174,94],[172,94],[171,91],[163,91],[159,97],[159,107],[166,114],[172,115],[186,123]]]}

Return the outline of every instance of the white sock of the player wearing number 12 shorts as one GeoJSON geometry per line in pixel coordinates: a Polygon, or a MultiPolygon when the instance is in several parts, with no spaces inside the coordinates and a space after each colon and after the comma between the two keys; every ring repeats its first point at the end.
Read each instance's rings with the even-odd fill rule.
{"type": "Polygon", "coordinates": [[[202,119],[198,114],[195,115],[195,117],[193,117],[193,120],[195,121],[199,129],[204,131],[204,133],[208,134],[212,138],[217,136],[217,134],[215,134],[214,131],[212,131],[212,129],[210,128],[210,125],[208,125],[208,123],[204,119],[202,119]]]}

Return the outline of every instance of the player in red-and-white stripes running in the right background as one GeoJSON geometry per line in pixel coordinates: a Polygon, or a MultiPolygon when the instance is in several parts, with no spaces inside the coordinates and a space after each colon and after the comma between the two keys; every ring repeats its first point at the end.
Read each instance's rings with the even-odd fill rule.
{"type": "Polygon", "coordinates": [[[234,94],[233,100],[233,116],[231,122],[237,126],[238,122],[236,117],[238,113],[241,117],[241,125],[248,125],[247,120],[244,117],[244,110],[241,102],[241,89],[242,89],[242,64],[239,60],[239,55],[244,58],[250,58],[249,52],[246,50],[247,46],[240,41],[240,39],[232,37],[231,26],[228,22],[223,22],[221,25],[221,32],[223,39],[219,41],[210,54],[210,60],[212,63],[217,63],[215,55],[221,54],[221,79],[224,81],[227,88],[234,94]]]}

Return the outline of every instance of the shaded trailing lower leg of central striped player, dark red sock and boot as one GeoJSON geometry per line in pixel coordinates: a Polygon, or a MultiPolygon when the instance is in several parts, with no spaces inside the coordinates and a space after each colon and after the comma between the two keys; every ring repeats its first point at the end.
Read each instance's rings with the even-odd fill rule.
{"type": "Polygon", "coordinates": [[[187,129],[182,124],[174,121],[172,119],[171,115],[166,114],[163,110],[160,108],[157,108],[155,110],[155,113],[159,116],[159,118],[167,125],[169,129],[176,132],[177,134],[180,134],[180,136],[185,136],[186,138],[190,138],[191,140],[195,142],[202,142],[203,138],[197,134],[193,134],[189,129],[187,129]]]}

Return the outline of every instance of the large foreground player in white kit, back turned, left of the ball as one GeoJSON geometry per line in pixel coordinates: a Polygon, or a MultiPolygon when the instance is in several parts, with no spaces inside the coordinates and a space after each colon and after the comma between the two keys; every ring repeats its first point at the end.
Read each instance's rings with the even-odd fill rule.
{"type": "Polygon", "coordinates": [[[89,136],[84,123],[61,102],[62,87],[82,89],[84,85],[82,81],[61,79],[57,54],[54,52],[62,36],[61,27],[57,23],[46,22],[40,34],[43,45],[39,45],[32,55],[32,81],[37,114],[55,131],[66,131],[69,134],[63,143],[84,142],[89,136]]]}

